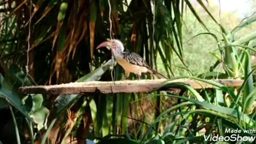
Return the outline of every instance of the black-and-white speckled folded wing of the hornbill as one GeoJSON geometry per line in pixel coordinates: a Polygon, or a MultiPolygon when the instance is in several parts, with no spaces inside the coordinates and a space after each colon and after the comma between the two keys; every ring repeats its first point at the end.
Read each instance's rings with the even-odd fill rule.
{"type": "Polygon", "coordinates": [[[147,62],[142,57],[140,57],[140,55],[137,53],[123,52],[123,55],[124,55],[124,59],[133,65],[148,67],[147,62]]]}

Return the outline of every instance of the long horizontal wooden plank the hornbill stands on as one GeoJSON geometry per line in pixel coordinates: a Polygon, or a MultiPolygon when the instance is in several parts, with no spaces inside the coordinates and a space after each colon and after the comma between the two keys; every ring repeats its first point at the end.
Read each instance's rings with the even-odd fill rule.
{"type": "MultiPolygon", "coordinates": [[[[135,80],[135,81],[116,81],[113,82],[84,82],[68,83],[60,85],[42,85],[42,86],[24,86],[19,91],[23,94],[42,93],[42,94],[82,94],[82,93],[132,93],[132,92],[150,92],[161,86],[166,79],[135,80]]],[[[178,79],[171,82],[182,82],[190,85],[194,89],[211,89],[212,85],[203,82],[196,82],[191,79],[178,79]]],[[[214,80],[228,87],[237,87],[243,84],[243,80],[219,79],[214,80]]]]}

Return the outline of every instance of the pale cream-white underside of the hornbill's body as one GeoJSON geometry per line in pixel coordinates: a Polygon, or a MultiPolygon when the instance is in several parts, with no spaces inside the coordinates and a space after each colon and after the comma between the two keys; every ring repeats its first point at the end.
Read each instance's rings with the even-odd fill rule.
{"type": "Polygon", "coordinates": [[[116,61],[127,72],[134,73],[134,74],[137,74],[137,75],[138,74],[140,75],[141,73],[147,73],[148,72],[148,69],[146,67],[133,65],[133,64],[127,62],[124,59],[116,59],[116,61]]]}

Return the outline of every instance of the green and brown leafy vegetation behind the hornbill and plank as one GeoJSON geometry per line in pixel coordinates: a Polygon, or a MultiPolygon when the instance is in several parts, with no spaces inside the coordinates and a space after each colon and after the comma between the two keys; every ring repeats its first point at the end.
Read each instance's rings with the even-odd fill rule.
{"type": "Polygon", "coordinates": [[[230,25],[219,21],[216,9],[201,0],[1,1],[0,141],[203,143],[203,134],[255,127],[256,16],[230,25]],[[148,94],[18,92],[25,85],[112,81],[111,73],[122,79],[111,52],[95,50],[108,38],[121,39],[169,78],[185,76],[215,89],[166,82],[163,89],[180,87],[180,93],[161,87],[148,94]],[[216,78],[245,83],[234,89],[210,81],[216,78]]]}

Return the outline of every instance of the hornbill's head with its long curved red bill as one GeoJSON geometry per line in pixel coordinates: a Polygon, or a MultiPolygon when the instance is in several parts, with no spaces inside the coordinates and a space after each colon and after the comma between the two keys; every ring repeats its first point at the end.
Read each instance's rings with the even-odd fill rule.
{"type": "Polygon", "coordinates": [[[118,39],[111,39],[109,41],[102,42],[96,49],[100,49],[101,47],[107,47],[108,50],[112,51],[124,51],[124,45],[118,39]]]}

